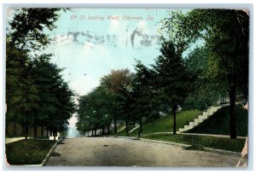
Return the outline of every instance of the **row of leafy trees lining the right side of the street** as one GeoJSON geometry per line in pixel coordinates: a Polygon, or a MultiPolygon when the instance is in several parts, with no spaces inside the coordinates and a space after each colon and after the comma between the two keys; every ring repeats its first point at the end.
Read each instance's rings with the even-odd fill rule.
{"type": "Polygon", "coordinates": [[[177,106],[204,108],[230,97],[230,138],[236,138],[237,96],[248,93],[248,14],[235,9],[172,10],[161,20],[161,48],[153,65],[136,61],[135,73],[113,70],[88,95],[80,96],[80,131],[108,127],[113,120],[151,121],[160,112],[173,115],[177,106]],[[195,47],[195,49],[193,49],[195,47]],[[190,51],[188,51],[190,49],[190,51]],[[191,50],[192,49],[192,50],[191,50]]]}

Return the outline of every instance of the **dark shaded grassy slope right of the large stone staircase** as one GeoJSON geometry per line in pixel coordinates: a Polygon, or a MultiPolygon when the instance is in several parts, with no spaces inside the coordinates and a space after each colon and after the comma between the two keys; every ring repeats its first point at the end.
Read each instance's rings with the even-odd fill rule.
{"type": "MultiPolygon", "coordinates": [[[[236,106],[236,133],[237,136],[247,136],[248,131],[248,113],[241,105],[236,106]]],[[[189,133],[204,133],[230,135],[230,107],[222,107],[216,113],[195,126],[189,133]]]]}

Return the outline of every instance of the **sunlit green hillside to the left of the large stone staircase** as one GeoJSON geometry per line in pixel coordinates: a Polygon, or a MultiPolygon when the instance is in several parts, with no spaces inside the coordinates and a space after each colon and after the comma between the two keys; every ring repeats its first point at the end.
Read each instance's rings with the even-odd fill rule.
{"type": "MultiPolygon", "coordinates": [[[[187,110],[177,113],[177,131],[179,128],[183,128],[184,125],[188,125],[189,121],[194,120],[201,114],[198,110],[187,110]]],[[[172,115],[156,119],[154,122],[143,125],[143,134],[150,134],[154,132],[172,132],[172,115]]],[[[126,136],[125,130],[118,133],[118,136],[126,136]]],[[[137,136],[137,131],[134,131],[130,136],[137,136]]]]}

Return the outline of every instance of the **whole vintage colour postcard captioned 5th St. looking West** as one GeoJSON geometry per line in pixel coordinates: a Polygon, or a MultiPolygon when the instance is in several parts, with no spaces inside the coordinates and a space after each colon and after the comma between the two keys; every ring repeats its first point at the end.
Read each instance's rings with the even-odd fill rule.
{"type": "Polygon", "coordinates": [[[246,167],[249,9],[8,8],[8,167],[246,167]]]}

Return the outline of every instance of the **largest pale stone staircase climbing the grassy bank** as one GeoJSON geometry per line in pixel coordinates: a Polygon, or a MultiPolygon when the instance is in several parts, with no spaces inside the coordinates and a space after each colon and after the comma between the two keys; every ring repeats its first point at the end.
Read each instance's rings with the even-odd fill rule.
{"type": "Polygon", "coordinates": [[[215,113],[219,108],[224,106],[218,106],[218,107],[210,107],[207,109],[206,112],[203,112],[202,115],[199,115],[197,119],[194,119],[193,122],[189,122],[189,125],[184,125],[183,129],[179,129],[179,132],[183,131],[189,131],[192,128],[194,128],[196,125],[201,124],[204,120],[208,119],[212,116],[213,113],[215,113]]]}

